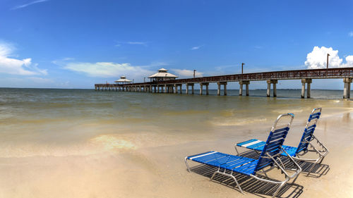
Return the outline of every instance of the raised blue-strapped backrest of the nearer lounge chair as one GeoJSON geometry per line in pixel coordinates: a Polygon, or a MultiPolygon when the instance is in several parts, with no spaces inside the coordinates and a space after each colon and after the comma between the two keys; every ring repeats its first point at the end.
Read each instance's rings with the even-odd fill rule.
{"type": "Polygon", "coordinates": [[[270,131],[270,135],[268,135],[268,139],[266,141],[265,147],[263,147],[263,151],[261,152],[260,158],[258,159],[258,163],[256,164],[256,168],[254,171],[261,170],[267,166],[273,166],[273,159],[276,159],[277,156],[282,153],[282,145],[285,142],[285,137],[287,137],[287,133],[289,131],[289,127],[292,124],[294,119],[294,114],[292,113],[285,113],[277,117],[273,127],[270,131]],[[289,123],[283,127],[277,127],[277,123],[280,118],[289,117],[289,123]],[[273,156],[271,159],[268,155],[273,156]]]}

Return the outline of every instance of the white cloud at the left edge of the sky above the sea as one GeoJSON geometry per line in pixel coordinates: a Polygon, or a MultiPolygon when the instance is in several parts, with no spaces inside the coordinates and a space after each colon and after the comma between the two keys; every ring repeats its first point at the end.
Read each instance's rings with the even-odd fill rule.
{"type": "Polygon", "coordinates": [[[0,43],[0,73],[13,75],[47,75],[47,70],[37,68],[37,63],[32,63],[31,58],[12,58],[14,47],[11,44],[0,43]]]}

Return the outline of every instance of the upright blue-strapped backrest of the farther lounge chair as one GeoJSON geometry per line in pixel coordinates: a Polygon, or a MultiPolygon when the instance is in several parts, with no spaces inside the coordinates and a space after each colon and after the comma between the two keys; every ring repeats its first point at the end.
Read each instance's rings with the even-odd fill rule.
{"type": "Polygon", "coordinates": [[[301,136],[301,140],[299,142],[299,146],[297,147],[297,151],[295,151],[296,154],[299,154],[301,151],[307,151],[308,146],[311,139],[313,138],[313,132],[316,128],[316,123],[318,123],[318,118],[321,116],[321,107],[313,109],[311,111],[311,114],[309,116],[308,121],[306,122],[306,126],[303,132],[303,135],[301,136]]]}

